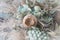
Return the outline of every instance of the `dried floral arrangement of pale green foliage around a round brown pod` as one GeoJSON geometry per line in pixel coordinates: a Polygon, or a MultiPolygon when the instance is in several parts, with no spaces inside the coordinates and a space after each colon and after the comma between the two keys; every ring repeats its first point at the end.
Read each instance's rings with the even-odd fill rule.
{"type": "Polygon", "coordinates": [[[26,0],[18,7],[16,18],[22,18],[22,24],[27,28],[29,40],[49,40],[47,32],[39,30],[38,22],[45,26],[51,24],[56,10],[56,3],[51,0],[26,0]],[[36,25],[35,25],[36,24],[36,25]],[[33,26],[33,27],[32,27],[33,26]],[[36,26],[36,27],[35,27],[36,26]]]}

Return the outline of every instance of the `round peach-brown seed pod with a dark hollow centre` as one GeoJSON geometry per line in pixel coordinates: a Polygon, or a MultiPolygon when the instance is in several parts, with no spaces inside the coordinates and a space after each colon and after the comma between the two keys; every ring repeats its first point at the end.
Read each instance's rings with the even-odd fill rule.
{"type": "Polygon", "coordinates": [[[23,25],[25,27],[35,26],[37,24],[37,18],[31,14],[28,14],[23,19],[23,25]]]}

